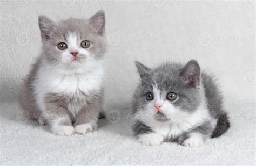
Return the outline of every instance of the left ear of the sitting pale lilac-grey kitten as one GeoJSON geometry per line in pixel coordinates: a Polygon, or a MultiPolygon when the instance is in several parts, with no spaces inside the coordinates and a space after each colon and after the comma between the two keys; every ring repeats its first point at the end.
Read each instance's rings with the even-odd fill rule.
{"type": "Polygon", "coordinates": [[[50,33],[55,26],[55,22],[46,16],[39,16],[38,24],[41,31],[42,39],[49,39],[50,33]]]}

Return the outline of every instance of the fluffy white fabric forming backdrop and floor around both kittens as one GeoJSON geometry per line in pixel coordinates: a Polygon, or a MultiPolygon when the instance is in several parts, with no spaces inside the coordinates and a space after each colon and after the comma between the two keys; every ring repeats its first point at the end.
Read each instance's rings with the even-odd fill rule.
{"type": "Polygon", "coordinates": [[[1,1],[0,164],[254,164],[255,1],[1,1]],[[102,3],[103,2],[103,3],[102,3]],[[160,2],[160,3],[158,3],[160,2]],[[207,3],[206,3],[207,2],[207,3]],[[94,133],[56,136],[24,120],[18,92],[41,49],[38,15],[53,20],[106,13],[105,104],[94,133]],[[198,60],[218,78],[230,113],[223,136],[190,148],[143,146],[127,119],[147,66],[198,60]]]}

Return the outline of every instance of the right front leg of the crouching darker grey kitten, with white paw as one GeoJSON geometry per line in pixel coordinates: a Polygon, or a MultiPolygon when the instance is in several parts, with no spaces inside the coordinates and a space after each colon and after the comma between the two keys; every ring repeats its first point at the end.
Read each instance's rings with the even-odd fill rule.
{"type": "Polygon", "coordinates": [[[198,147],[203,145],[207,138],[210,138],[212,131],[213,124],[211,121],[206,121],[204,124],[191,129],[190,132],[182,134],[178,142],[180,145],[198,147]]]}

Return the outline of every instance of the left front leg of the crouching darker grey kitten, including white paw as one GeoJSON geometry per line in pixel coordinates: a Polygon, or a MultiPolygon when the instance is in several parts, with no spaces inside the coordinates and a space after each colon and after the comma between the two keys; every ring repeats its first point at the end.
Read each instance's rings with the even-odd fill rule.
{"type": "Polygon", "coordinates": [[[143,124],[141,121],[135,122],[133,131],[139,138],[138,142],[144,145],[159,145],[164,141],[163,135],[154,133],[149,126],[143,124]]]}

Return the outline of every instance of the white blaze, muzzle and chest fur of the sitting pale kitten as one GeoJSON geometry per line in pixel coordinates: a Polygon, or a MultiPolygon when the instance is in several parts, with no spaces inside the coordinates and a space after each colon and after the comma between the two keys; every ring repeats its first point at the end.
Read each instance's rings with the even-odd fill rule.
{"type": "MultiPolygon", "coordinates": [[[[68,49],[61,54],[64,65],[52,65],[42,61],[39,64],[38,74],[33,84],[36,102],[45,116],[48,116],[44,105],[44,96],[47,93],[60,93],[79,98],[79,91],[85,95],[90,95],[91,91],[97,91],[102,88],[104,76],[103,61],[96,60],[90,55],[90,47],[92,46],[88,49],[80,48],[80,42],[82,41],[78,41],[75,33],[69,33],[67,40],[68,49]],[[70,65],[73,57],[70,54],[71,49],[85,54],[86,60],[82,61],[81,64],[70,65]]],[[[75,117],[85,104],[70,104],[68,109],[73,117],[75,117]]]]}

